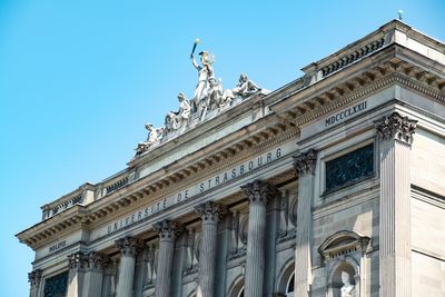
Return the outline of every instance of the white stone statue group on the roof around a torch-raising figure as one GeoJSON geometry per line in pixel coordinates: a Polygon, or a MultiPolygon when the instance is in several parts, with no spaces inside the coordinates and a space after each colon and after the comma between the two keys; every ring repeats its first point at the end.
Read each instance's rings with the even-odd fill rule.
{"type": "Polygon", "coordinates": [[[239,76],[238,83],[234,89],[222,89],[221,80],[215,79],[212,67],[215,57],[208,51],[201,51],[198,53],[201,65],[196,61],[195,50],[198,43],[199,39],[196,39],[190,53],[191,63],[198,70],[198,83],[194,97],[188,100],[184,92],[178,93],[179,109],[167,113],[164,127],[154,128],[151,123],[146,125],[147,140],[138,143],[135,149],[135,157],[139,157],[149,150],[151,146],[158,143],[168,133],[184,131],[191,117],[202,121],[208,112],[230,106],[235,98],[244,99],[261,90],[244,73],[239,76]]]}

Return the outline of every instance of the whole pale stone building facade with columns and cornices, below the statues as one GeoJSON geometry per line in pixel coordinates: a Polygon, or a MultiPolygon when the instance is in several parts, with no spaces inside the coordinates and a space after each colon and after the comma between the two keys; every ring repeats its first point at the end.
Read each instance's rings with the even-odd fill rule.
{"type": "Polygon", "coordinates": [[[127,168],[43,206],[17,235],[30,296],[445,296],[445,44],[392,21],[303,71],[199,117],[180,99],[127,168]]]}

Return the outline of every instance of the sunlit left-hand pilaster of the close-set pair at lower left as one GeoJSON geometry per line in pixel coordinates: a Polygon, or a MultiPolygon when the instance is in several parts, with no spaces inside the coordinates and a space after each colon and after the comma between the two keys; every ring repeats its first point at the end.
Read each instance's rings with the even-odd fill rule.
{"type": "Polygon", "coordinates": [[[88,256],[77,251],[68,256],[68,291],[67,297],[82,296],[85,268],[88,266],[88,256]]]}

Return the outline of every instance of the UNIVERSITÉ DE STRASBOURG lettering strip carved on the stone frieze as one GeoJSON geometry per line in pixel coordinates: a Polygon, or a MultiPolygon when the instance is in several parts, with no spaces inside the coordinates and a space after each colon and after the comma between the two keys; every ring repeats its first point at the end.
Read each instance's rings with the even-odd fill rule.
{"type": "Polygon", "coordinates": [[[147,206],[144,209],[140,209],[122,219],[119,219],[118,221],[115,221],[115,222],[108,225],[107,232],[110,234],[112,231],[125,228],[129,225],[136,224],[158,211],[161,211],[168,207],[171,207],[176,204],[187,200],[187,199],[189,199],[198,194],[201,194],[206,190],[209,190],[214,187],[224,185],[225,182],[228,182],[229,180],[235,179],[237,177],[244,176],[244,175],[248,174],[249,171],[257,169],[261,166],[270,164],[271,161],[275,161],[275,160],[281,158],[283,156],[285,156],[287,152],[289,152],[289,151],[285,151],[285,150],[289,150],[293,147],[294,147],[293,143],[290,143],[290,146],[278,147],[266,154],[257,156],[248,161],[237,165],[236,167],[234,167],[229,170],[219,172],[218,175],[216,175],[209,179],[202,180],[201,182],[199,182],[192,187],[189,187],[180,192],[177,192],[174,196],[164,198],[162,200],[159,200],[156,204],[147,206]]]}

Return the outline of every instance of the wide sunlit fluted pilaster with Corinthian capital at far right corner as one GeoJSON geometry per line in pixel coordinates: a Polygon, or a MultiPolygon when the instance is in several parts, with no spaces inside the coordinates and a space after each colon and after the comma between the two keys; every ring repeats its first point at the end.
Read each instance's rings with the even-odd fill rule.
{"type": "Polygon", "coordinates": [[[394,112],[376,125],[380,146],[380,296],[411,296],[409,150],[416,122],[394,112]]]}

